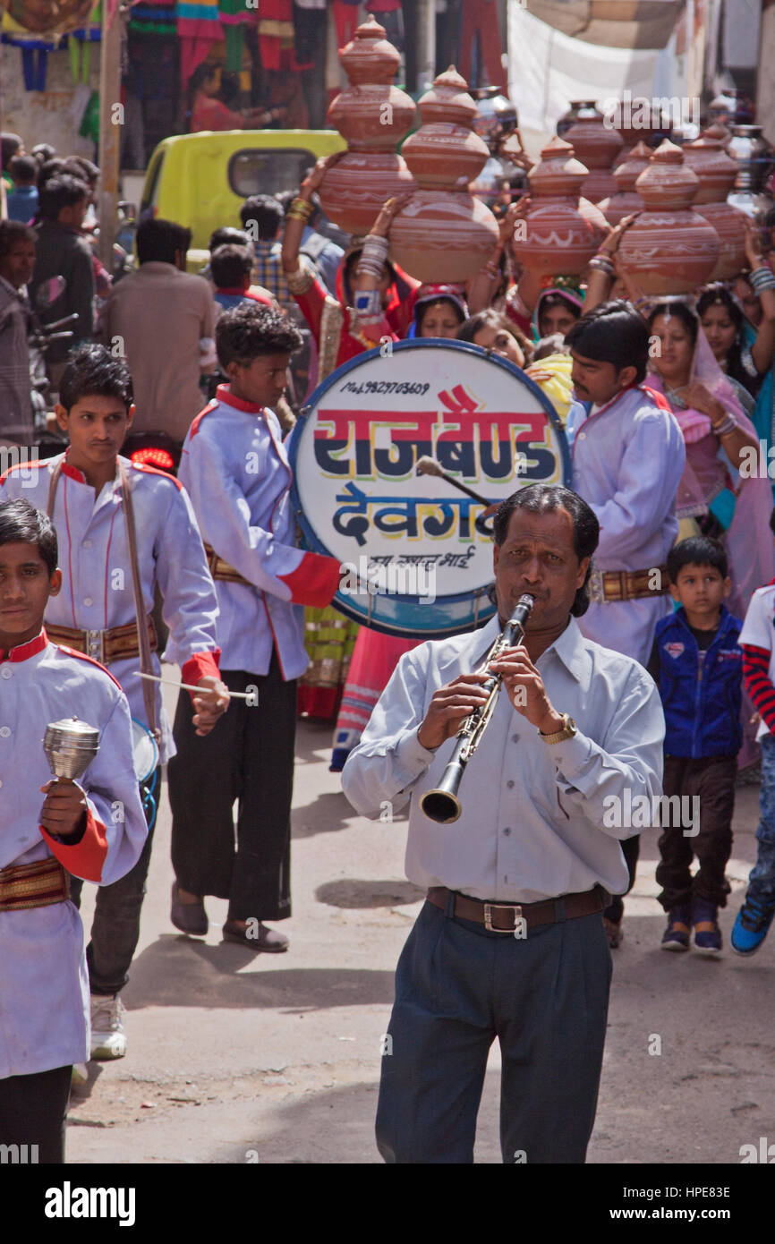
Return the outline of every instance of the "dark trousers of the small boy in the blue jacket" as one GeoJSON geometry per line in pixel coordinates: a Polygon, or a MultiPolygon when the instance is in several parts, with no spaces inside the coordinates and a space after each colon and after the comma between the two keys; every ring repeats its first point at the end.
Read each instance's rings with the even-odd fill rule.
{"type": "Polygon", "coordinates": [[[693,896],[726,906],[731,887],[724,872],[731,855],[736,774],[736,756],[664,758],[663,792],[699,801],[699,833],[687,836],[683,826],[671,825],[659,837],[657,881],[663,888],[658,897],[666,912],[690,903],[693,896]],[[694,857],[699,871],[692,877],[694,857]]]}

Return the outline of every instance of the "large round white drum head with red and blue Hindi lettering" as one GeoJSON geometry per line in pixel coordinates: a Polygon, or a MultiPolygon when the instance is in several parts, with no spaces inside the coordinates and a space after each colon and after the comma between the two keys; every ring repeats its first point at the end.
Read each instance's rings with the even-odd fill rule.
{"type": "MultiPolygon", "coordinates": [[[[389,345],[389,343],[388,343],[389,345]]],[[[484,505],[525,484],[565,484],[570,455],[549,399],[519,367],[463,341],[401,341],[320,384],[289,439],[305,544],[336,557],[333,605],[388,634],[439,638],[495,612],[484,505]]]]}

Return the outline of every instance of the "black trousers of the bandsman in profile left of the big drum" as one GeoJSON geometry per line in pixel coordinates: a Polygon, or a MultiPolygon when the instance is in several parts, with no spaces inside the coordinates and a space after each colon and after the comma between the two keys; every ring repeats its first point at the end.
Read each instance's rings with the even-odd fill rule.
{"type": "Polygon", "coordinates": [[[190,894],[228,898],[229,919],[286,919],[296,682],[284,682],[274,652],[267,674],[224,669],[221,678],[229,690],[258,688],[258,704],[231,700],[199,738],[188,694],[178,699],[168,774],[173,868],[190,894]]]}

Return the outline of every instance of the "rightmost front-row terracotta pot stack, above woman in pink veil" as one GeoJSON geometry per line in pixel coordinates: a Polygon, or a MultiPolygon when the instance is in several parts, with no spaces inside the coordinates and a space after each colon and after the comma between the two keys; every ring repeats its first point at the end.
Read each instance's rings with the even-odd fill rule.
{"type": "Polygon", "coordinates": [[[709,280],[719,236],[694,211],[699,179],[684,164],[683,152],[663,142],[636,182],[643,211],[620,244],[620,261],[644,294],[687,294],[709,280]]]}

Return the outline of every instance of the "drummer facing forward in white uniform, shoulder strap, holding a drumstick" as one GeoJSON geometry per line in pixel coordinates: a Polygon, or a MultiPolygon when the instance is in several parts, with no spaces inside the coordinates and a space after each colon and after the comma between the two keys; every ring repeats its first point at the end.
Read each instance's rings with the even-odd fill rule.
{"type": "MultiPolygon", "coordinates": [[[[149,615],[157,583],[170,632],[164,659],[182,666],[183,682],[203,689],[202,695],[194,695],[197,729],[202,734],[211,730],[229,703],[218,673],[218,602],[197,520],[175,479],[118,455],[133,415],[132,381],[121,360],[103,346],[82,346],[65,369],[60,402],[57,420],[70,435],[70,448],[32,470],[11,468],[0,499],[24,498],[51,514],[60,539],[63,585],[49,603],[49,634],[56,643],[109,666],[128,697],[132,717],[155,731],[163,764],[174,754],[174,744],[160,688],[136,675],[142,663],[138,615],[149,637],[146,663],[155,674],[160,672],[148,651],[155,647],[149,615]]],[[[127,983],[139,937],[159,789],[157,766],[142,790],[149,826],[143,853],[118,886],[97,896],[87,950],[92,1057],[122,1057],[126,1052],[118,994],[127,983]]],[[[76,902],[80,888],[73,882],[76,902]]]]}

